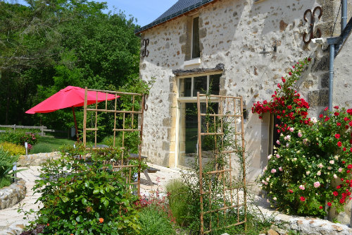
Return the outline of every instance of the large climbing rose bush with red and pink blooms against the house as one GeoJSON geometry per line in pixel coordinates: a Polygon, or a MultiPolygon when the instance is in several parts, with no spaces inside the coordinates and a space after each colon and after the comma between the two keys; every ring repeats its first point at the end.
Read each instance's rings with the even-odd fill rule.
{"type": "Polygon", "coordinates": [[[282,77],[270,101],[253,104],[252,112],[275,114],[279,139],[268,156],[260,183],[272,206],[295,215],[327,214],[351,200],[352,109],[335,106],[308,118],[309,104],[294,90],[310,58],[298,61],[282,77]]]}

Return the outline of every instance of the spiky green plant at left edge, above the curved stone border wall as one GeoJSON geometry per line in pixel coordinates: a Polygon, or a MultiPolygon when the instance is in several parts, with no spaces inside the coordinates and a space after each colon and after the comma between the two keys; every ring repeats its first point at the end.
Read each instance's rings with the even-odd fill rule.
{"type": "MultiPolygon", "coordinates": [[[[1,185],[8,186],[8,181],[11,182],[11,178],[13,178],[13,174],[23,171],[25,169],[12,171],[13,164],[18,161],[18,155],[13,156],[9,152],[0,148],[0,181],[1,185]]],[[[1,187],[0,187],[1,188],[1,187]]]]}

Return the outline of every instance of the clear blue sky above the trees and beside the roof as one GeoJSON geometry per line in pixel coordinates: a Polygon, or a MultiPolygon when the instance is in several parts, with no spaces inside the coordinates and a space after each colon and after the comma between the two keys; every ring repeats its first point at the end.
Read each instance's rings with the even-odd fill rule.
{"type": "MultiPolygon", "coordinates": [[[[137,18],[137,23],[141,26],[151,23],[153,20],[161,16],[170,6],[175,4],[177,0],[96,0],[106,1],[108,3],[108,11],[125,11],[126,16],[132,15],[137,18]]],[[[24,4],[24,0],[8,0],[8,2],[18,2],[24,4]]]]}

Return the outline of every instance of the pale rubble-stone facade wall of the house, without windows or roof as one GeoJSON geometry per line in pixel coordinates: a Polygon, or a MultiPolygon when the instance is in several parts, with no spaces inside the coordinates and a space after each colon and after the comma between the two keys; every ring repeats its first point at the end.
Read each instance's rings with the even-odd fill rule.
{"type": "MultiPolygon", "coordinates": [[[[322,37],[332,34],[334,20],[339,10],[339,0],[266,0],[253,4],[253,0],[219,0],[199,8],[199,36],[201,45],[200,64],[185,65],[189,56],[191,40],[191,16],[180,16],[168,23],[142,32],[142,40],[148,38],[149,56],[140,60],[140,76],[143,80],[156,78],[144,113],[143,155],[153,163],[174,167],[177,162],[177,120],[180,113],[177,103],[177,77],[172,70],[191,68],[215,68],[224,64],[220,93],[241,95],[246,109],[250,110],[257,100],[270,99],[277,88],[281,76],[298,60],[306,56],[313,63],[299,81],[297,90],[310,103],[310,115],[318,116],[328,102],[327,45],[303,43],[303,32],[308,32],[309,23],[303,20],[303,13],[315,6],[322,6],[322,18],[316,24],[322,37]],[[267,51],[277,44],[277,52],[260,54],[266,44],[267,51]]],[[[351,4],[351,3],[348,3],[351,4]]],[[[348,5],[349,9],[351,6],[348,5]]],[[[348,12],[351,16],[351,11],[348,12]]],[[[339,35],[339,18],[334,35],[339,35]]],[[[346,56],[348,50],[344,49],[346,56]]],[[[341,61],[346,58],[341,54],[341,61]]],[[[337,59],[338,61],[338,59],[337,59]]],[[[343,63],[341,63],[343,64],[343,63]]],[[[345,68],[337,68],[339,71],[345,68]]],[[[336,78],[335,100],[351,106],[346,100],[346,92],[351,88],[347,78],[336,78]],[[338,82],[346,80],[347,85],[338,82]]],[[[339,76],[336,73],[335,76],[339,76]]],[[[345,83],[344,83],[345,84],[345,83]]],[[[351,99],[350,99],[351,100],[351,99]]],[[[270,117],[263,120],[249,112],[245,123],[247,150],[250,152],[249,181],[267,164],[270,117]]]]}

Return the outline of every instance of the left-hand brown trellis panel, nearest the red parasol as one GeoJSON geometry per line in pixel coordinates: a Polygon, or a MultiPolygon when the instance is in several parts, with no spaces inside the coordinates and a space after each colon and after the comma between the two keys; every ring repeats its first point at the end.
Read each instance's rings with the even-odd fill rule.
{"type": "MultiPolygon", "coordinates": [[[[113,114],[113,149],[118,148],[118,160],[107,163],[112,164],[114,171],[125,172],[126,181],[130,185],[137,187],[137,193],[140,194],[140,176],[141,176],[141,162],[142,162],[142,135],[143,135],[143,116],[145,109],[145,95],[139,93],[130,92],[116,92],[109,90],[93,90],[85,88],[85,99],[84,99],[84,117],[83,117],[83,144],[87,150],[99,151],[101,147],[97,145],[97,135],[99,131],[98,125],[98,114],[108,113],[113,114]],[[106,99],[105,107],[102,107],[103,102],[98,104],[95,102],[90,106],[87,105],[87,92],[103,92],[106,93],[106,97],[109,94],[115,95],[113,104],[109,103],[106,99]],[[123,104],[121,102],[123,100],[123,104]],[[120,110],[119,110],[120,109],[120,110]],[[122,110],[121,110],[122,109],[122,110]],[[87,114],[92,112],[95,114],[93,128],[87,128],[87,114]],[[94,132],[94,146],[87,147],[87,133],[89,131],[94,132]],[[119,135],[119,133],[121,133],[119,135]],[[128,133],[136,133],[139,138],[137,146],[138,157],[130,157],[130,149],[127,147],[126,138],[128,133]],[[135,164],[132,164],[134,162],[135,164]],[[137,171],[137,179],[134,179],[133,172],[137,171]]],[[[130,135],[131,136],[131,135],[130,135]]],[[[136,135],[135,135],[136,136],[136,135]]]]}

